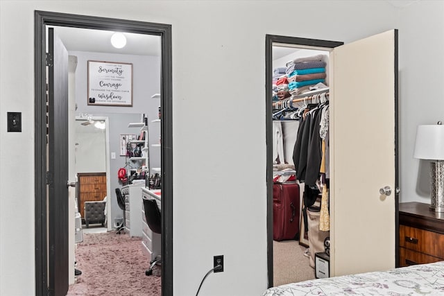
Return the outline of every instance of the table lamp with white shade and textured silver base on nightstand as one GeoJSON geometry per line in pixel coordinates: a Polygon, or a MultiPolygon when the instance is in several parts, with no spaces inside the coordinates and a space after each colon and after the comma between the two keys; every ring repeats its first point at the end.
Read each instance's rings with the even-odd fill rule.
{"type": "Polygon", "coordinates": [[[418,125],[413,157],[430,162],[431,211],[444,212],[444,125],[418,125]]]}

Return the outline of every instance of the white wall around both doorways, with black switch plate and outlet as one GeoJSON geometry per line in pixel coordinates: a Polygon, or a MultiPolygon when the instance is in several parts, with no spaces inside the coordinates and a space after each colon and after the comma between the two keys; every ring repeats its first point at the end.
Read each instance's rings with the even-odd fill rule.
{"type": "Polygon", "coordinates": [[[34,10],[172,24],[174,293],[196,293],[212,256],[223,254],[224,272],[210,275],[200,295],[260,295],[267,285],[265,35],[350,42],[394,28],[397,10],[384,1],[78,2],[0,2],[1,117],[19,111],[24,119],[22,133],[7,133],[0,121],[0,295],[35,289],[34,10]],[[18,178],[17,168],[29,169],[18,178]]]}

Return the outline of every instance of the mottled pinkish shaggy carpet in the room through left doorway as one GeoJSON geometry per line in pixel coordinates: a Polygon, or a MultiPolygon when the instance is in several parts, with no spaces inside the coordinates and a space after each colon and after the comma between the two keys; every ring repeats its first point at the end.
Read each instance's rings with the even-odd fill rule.
{"type": "Polygon", "coordinates": [[[82,271],[67,295],[161,295],[160,268],[147,277],[149,259],[142,239],[105,232],[84,234],[76,248],[77,269],[82,271]]]}

